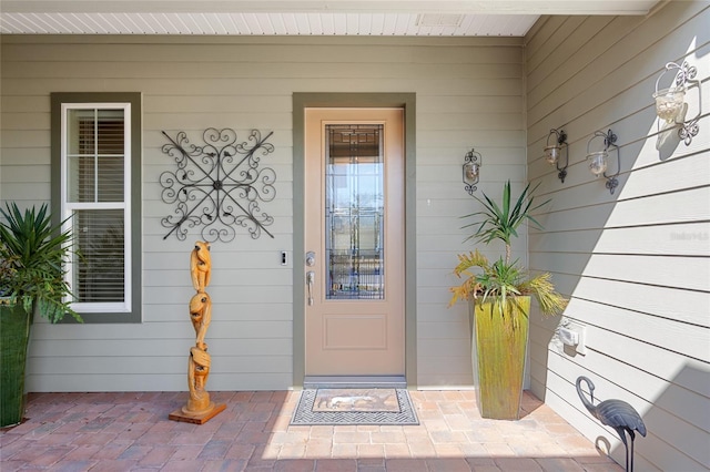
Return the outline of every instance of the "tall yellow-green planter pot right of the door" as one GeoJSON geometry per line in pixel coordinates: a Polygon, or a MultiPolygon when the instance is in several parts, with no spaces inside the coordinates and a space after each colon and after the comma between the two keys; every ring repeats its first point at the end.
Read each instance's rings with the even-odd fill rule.
{"type": "Polygon", "coordinates": [[[474,380],[483,418],[520,418],[525,358],[528,345],[530,297],[507,300],[500,316],[494,302],[476,304],[474,329],[474,380]]]}

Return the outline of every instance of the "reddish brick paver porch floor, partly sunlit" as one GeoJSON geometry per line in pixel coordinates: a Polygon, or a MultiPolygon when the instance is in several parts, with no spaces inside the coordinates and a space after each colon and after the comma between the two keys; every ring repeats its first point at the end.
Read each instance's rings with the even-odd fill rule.
{"type": "Polygon", "coordinates": [[[212,392],[226,410],[196,425],[168,419],[185,392],[34,393],[0,433],[0,470],[622,470],[527,392],[519,421],[493,421],[473,391],[413,391],[407,427],[291,427],[298,394],[212,392]]]}

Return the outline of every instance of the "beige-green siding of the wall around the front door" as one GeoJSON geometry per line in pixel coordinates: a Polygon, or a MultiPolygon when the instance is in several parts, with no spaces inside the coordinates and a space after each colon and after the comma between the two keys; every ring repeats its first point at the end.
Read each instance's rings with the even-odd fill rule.
{"type": "MultiPolygon", "coordinates": [[[[233,127],[241,136],[251,129],[273,131],[275,152],[262,165],[277,175],[276,198],[262,205],[275,218],[268,227],[275,239],[240,233],[230,244],[213,245],[209,388],[292,386],[293,267],[280,265],[280,253],[293,256],[294,232],[301,230],[292,215],[295,92],[416,94],[422,211],[407,218],[419,228],[422,281],[413,383],[469,387],[465,307],[446,306],[453,280],[445,268],[468,248],[457,216],[470,212],[473,199],[459,184],[460,165],[475,146],[484,154],[481,188],[525,181],[521,44],[515,38],[3,37],[2,201],[50,198],[50,92],[143,94],[143,322],[38,322],[29,389],[186,389],[180,372],[193,336],[189,254],[200,236],[193,230],[185,242],[163,240],[161,219],[173,208],[160,198],[159,178],[174,164],[161,152],[161,131],[184,131],[195,143],[207,126],[233,127]]],[[[524,247],[516,248],[521,257],[524,247]]]]}

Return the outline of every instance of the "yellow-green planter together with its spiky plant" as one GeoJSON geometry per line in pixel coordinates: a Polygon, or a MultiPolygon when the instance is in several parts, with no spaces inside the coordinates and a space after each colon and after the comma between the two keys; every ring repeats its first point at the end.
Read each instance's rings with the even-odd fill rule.
{"type": "Polygon", "coordinates": [[[459,299],[470,305],[471,341],[477,350],[475,378],[484,418],[519,418],[530,297],[547,316],[558,315],[567,306],[567,300],[556,291],[550,274],[529,276],[518,260],[510,261],[510,242],[518,237],[520,225],[529,222],[541,228],[532,213],[549,201],[535,205],[534,191],[528,184],[511,204],[508,181],[500,205],[484,194],[483,199],[475,197],[483,209],[464,216],[475,218],[465,226],[474,228],[466,240],[483,244],[500,240],[505,245],[505,255],[493,264],[478,249],[459,255],[454,273],[464,280],[450,289],[452,305],[459,299]]]}

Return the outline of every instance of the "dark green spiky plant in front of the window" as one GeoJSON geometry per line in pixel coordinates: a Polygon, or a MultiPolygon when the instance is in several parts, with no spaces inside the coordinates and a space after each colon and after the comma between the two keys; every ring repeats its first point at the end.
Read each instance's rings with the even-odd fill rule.
{"type": "Polygon", "coordinates": [[[60,321],[70,314],[71,287],[64,279],[64,265],[72,247],[72,235],[53,226],[47,204],[20,212],[17,204],[0,208],[0,294],[22,304],[31,314],[37,305],[49,321],[60,321]]]}

